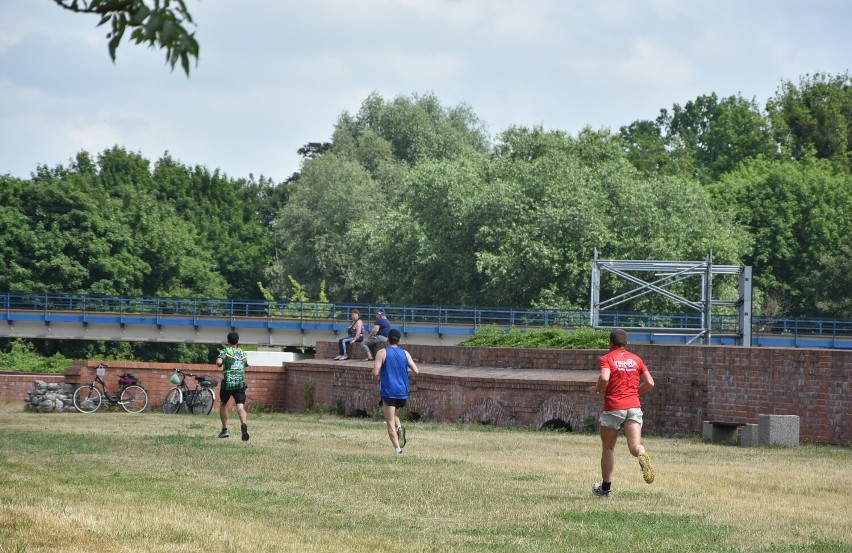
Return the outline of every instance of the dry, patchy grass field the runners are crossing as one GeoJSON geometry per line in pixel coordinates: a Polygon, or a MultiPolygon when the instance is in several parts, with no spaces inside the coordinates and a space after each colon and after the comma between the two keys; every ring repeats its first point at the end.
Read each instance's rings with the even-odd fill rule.
{"type": "Polygon", "coordinates": [[[844,552],[852,448],[623,438],[614,497],[590,434],[408,423],[28,413],[0,405],[0,551],[844,552]],[[231,425],[237,427],[238,424],[231,425]]]}

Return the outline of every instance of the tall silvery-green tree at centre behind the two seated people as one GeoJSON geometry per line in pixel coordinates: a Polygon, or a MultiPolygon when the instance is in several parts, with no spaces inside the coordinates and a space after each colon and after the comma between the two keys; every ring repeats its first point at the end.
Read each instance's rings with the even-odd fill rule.
{"type": "Polygon", "coordinates": [[[325,280],[335,301],[393,299],[401,288],[386,286],[375,267],[399,251],[393,241],[418,232],[402,199],[409,172],[486,151],[481,123],[467,106],[444,108],[433,95],[386,101],[371,94],[357,115],[340,116],[330,147],[305,149],[278,221],[269,288],[288,296],[292,275],[311,295],[325,280]]]}

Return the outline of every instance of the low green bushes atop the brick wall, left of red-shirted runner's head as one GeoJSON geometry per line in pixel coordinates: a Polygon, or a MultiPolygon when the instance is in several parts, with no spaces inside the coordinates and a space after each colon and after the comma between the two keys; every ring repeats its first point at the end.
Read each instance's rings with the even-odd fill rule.
{"type": "Polygon", "coordinates": [[[504,331],[497,326],[483,326],[473,337],[459,343],[460,346],[516,347],[550,349],[606,349],[609,345],[608,330],[581,327],[574,331],[562,328],[543,328],[521,331],[504,331]]]}

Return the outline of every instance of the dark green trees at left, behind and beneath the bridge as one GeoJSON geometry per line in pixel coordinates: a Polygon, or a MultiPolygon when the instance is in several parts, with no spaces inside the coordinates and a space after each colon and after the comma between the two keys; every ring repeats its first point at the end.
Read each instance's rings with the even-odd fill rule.
{"type": "MultiPolygon", "coordinates": [[[[0,290],[110,296],[257,297],[272,255],[269,210],[284,193],[261,179],[189,169],[168,155],[80,152],[31,180],[0,176],[0,290]]],[[[209,362],[205,346],[36,343],[76,359],[209,362]]]]}

